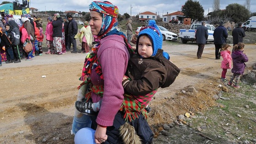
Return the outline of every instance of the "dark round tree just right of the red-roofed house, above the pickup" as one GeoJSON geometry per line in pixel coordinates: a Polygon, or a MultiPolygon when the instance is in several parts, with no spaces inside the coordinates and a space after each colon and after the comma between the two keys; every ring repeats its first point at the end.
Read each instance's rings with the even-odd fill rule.
{"type": "Polygon", "coordinates": [[[203,20],[203,6],[198,1],[187,0],[181,10],[187,18],[203,20]]]}

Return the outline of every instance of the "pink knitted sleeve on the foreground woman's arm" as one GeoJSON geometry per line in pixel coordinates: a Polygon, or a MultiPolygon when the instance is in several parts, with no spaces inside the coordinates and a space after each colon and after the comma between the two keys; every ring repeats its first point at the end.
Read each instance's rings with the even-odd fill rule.
{"type": "Polygon", "coordinates": [[[112,126],[115,115],[123,102],[122,80],[128,62],[127,53],[115,47],[109,47],[98,55],[104,76],[104,95],[96,123],[112,126]]]}

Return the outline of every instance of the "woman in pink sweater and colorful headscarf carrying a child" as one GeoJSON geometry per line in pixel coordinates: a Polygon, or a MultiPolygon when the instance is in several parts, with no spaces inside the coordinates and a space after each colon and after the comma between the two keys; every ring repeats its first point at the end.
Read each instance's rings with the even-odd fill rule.
{"type": "MultiPolygon", "coordinates": [[[[135,106],[132,107],[134,111],[128,112],[127,106],[134,103],[124,100],[123,96],[123,75],[134,51],[123,32],[117,29],[118,8],[108,1],[93,1],[89,6],[91,33],[100,38],[100,43],[85,59],[80,78],[84,82],[79,88],[90,87],[85,101],[102,101],[100,111],[90,116],[92,128],[96,130],[95,143],[151,144],[153,132],[143,116],[143,110],[135,106]]],[[[82,104],[81,101],[75,103],[82,104]]],[[[85,138],[83,129],[76,133],[75,143],[85,138]]],[[[85,140],[83,144],[86,144],[85,140]]]]}

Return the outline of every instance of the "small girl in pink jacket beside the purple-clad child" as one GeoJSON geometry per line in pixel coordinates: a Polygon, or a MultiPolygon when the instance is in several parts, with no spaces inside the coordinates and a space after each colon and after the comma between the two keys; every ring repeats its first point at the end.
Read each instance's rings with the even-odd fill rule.
{"type": "Polygon", "coordinates": [[[224,82],[228,82],[228,80],[226,79],[226,73],[227,73],[227,69],[231,69],[232,58],[230,55],[230,48],[231,46],[229,44],[224,44],[220,51],[220,55],[223,58],[221,62],[221,68],[222,68],[221,80],[224,82]]]}

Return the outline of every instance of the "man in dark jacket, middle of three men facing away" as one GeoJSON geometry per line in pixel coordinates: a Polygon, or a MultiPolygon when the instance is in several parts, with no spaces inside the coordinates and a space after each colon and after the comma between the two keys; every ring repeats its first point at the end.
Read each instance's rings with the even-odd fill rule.
{"type": "Polygon", "coordinates": [[[217,27],[213,32],[214,45],[215,45],[215,59],[220,59],[219,50],[222,45],[227,43],[228,32],[227,29],[223,26],[224,22],[219,22],[219,27],[217,27]]]}

